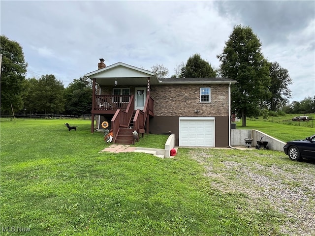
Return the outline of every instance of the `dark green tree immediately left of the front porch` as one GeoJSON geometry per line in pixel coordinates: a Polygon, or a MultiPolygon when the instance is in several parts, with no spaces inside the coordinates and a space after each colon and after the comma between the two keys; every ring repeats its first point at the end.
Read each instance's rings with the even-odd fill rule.
{"type": "Polygon", "coordinates": [[[92,81],[88,78],[74,79],[65,89],[65,113],[81,116],[91,114],[92,81]]]}

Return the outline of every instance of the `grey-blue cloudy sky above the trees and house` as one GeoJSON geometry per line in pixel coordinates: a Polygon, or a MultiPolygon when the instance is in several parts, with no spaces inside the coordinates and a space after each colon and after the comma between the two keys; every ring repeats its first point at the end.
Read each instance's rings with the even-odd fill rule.
{"type": "Polygon", "coordinates": [[[23,47],[27,77],[73,79],[124,62],[170,76],[194,53],[220,65],[233,26],[249,26],[262,53],[289,71],[293,97],[315,95],[315,1],[0,1],[1,34],[23,47]]]}

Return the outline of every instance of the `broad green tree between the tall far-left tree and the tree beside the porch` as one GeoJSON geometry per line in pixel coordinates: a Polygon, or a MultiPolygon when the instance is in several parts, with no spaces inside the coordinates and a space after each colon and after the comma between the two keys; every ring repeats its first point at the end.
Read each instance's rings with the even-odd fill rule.
{"type": "Polygon", "coordinates": [[[29,90],[26,99],[26,107],[30,112],[36,113],[63,113],[65,99],[63,97],[63,83],[54,75],[42,75],[29,80],[29,90]]]}

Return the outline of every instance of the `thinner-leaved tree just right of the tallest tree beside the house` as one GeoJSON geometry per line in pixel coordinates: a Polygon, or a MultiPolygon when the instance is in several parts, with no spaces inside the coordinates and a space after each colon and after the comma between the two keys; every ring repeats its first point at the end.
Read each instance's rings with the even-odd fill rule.
{"type": "Polygon", "coordinates": [[[269,71],[271,96],[267,100],[267,105],[271,111],[277,112],[291,97],[291,90],[288,88],[288,85],[292,84],[292,79],[288,70],[282,68],[278,62],[270,63],[269,71]]]}

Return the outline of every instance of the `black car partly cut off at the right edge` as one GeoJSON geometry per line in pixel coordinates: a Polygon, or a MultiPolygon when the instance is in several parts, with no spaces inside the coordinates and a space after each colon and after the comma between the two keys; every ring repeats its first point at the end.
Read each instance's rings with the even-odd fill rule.
{"type": "Polygon", "coordinates": [[[303,158],[315,159],[315,134],[304,140],[289,141],[284,145],[284,153],[293,161],[303,158]]]}

